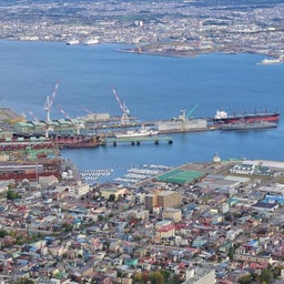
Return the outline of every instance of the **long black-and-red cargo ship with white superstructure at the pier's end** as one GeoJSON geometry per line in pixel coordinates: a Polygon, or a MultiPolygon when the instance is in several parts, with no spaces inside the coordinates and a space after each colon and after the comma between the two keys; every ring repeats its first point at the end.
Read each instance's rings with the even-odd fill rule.
{"type": "Polygon", "coordinates": [[[224,123],[236,123],[236,122],[273,122],[278,123],[280,113],[278,112],[255,112],[255,113],[243,113],[243,114],[227,114],[225,111],[217,111],[213,118],[214,124],[224,123]]]}

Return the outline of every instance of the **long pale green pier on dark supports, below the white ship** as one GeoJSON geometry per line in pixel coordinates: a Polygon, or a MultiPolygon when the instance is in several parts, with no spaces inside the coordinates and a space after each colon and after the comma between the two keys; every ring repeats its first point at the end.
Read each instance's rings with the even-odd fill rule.
{"type": "Polygon", "coordinates": [[[116,146],[119,143],[130,143],[131,145],[140,145],[142,142],[153,142],[155,145],[160,142],[173,143],[173,139],[170,136],[138,136],[138,138],[109,138],[106,144],[116,146]]]}

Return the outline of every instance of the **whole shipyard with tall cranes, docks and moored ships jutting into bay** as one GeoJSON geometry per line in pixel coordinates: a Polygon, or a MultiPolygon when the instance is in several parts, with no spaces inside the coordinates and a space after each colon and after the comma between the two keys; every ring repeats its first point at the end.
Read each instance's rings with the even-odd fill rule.
{"type": "MultiPolygon", "coordinates": [[[[120,108],[120,115],[89,111],[84,116],[71,118],[60,109],[64,119],[51,119],[59,85],[58,81],[45,99],[45,119],[39,120],[30,110],[28,112],[33,120],[28,120],[10,108],[0,109],[0,180],[37,181],[39,176],[51,174],[61,179],[67,169],[61,150],[116,146],[122,143],[172,144],[173,133],[262,130],[277,128],[280,121],[280,112],[266,110],[242,114],[217,110],[212,118],[194,118],[193,113],[200,103],[189,111],[181,110],[176,118],[141,121],[131,114],[115,89],[112,92],[120,108]]],[[[80,176],[79,173],[77,175],[80,176]]]]}

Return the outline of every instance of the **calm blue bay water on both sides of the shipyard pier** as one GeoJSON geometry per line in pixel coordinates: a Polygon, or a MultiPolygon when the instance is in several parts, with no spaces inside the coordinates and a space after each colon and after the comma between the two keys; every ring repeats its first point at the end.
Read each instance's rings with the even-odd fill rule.
{"type": "MultiPolygon", "coordinates": [[[[59,109],[70,116],[85,115],[85,110],[120,115],[112,88],[142,121],[171,119],[196,103],[196,118],[213,116],[216,110],[284,114],[284,64],[256,64],[264,58],[257,54],[170,58],[119,52],[122,48],[0,41],[0,104],[29,119],[29,111],[44,119],[45,98],[60,80],[51,119],[63,118],[59,109]]],[[[284,161],[283,125],[282,119],[272,130],[174,134],[172,145],[118,145],[62,155],[81,170],[113,169],[113,176],[142,164],[210,161],[215,153],[222,159],[284,161]]]]}

